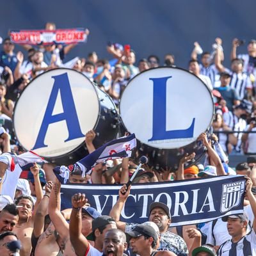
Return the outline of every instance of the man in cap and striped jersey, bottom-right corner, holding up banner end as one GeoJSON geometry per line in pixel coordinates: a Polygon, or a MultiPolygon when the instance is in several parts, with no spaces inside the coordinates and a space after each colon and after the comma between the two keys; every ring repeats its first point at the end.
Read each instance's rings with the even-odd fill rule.
{"type": "Polygon", "coordinates": [[[232,239],[221,244],[217,252],[218,256],[256,255],[256,199],[251,189],[252,180],[249,177],[246,177],[246,196],[250,202],[254,215],[252,231],[246,234],[248,216],[245,212],[243,214],[223,217],[222,220],[227,222],[228,234],[232,236],[232,239]]]}

